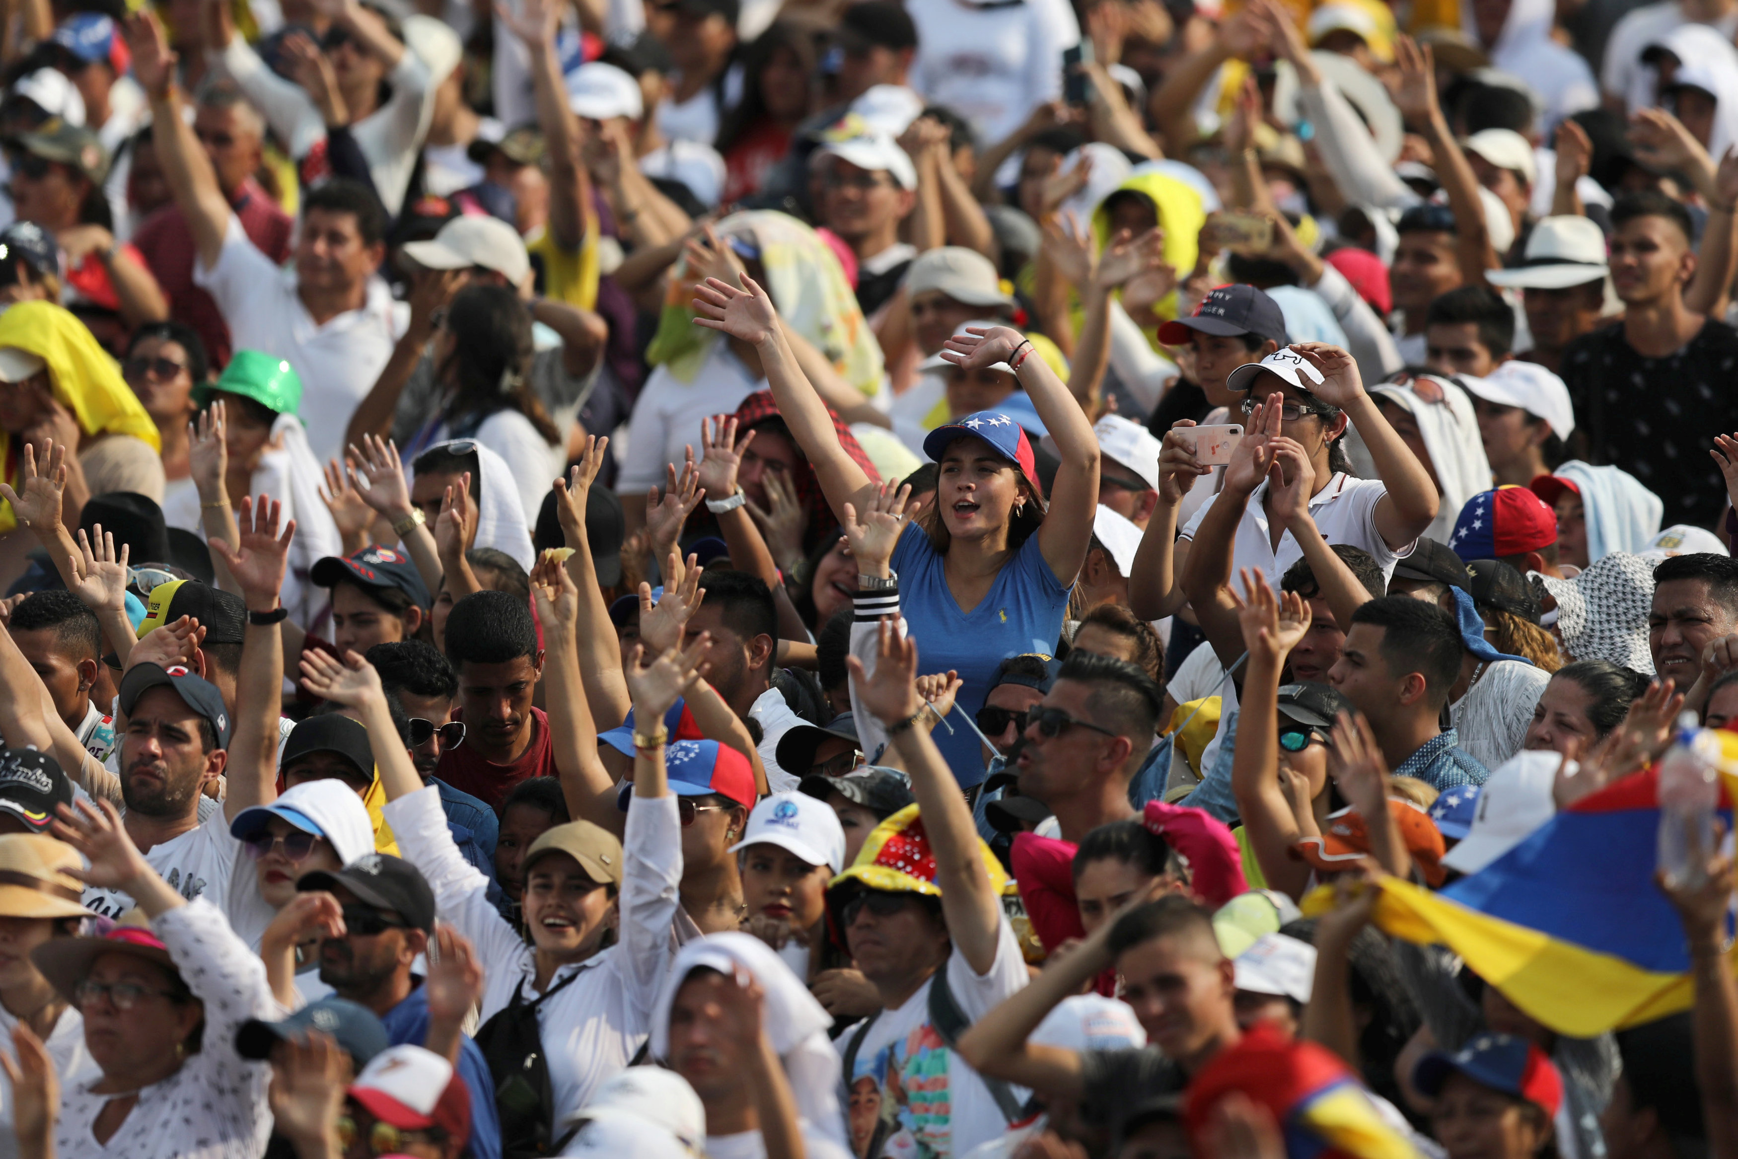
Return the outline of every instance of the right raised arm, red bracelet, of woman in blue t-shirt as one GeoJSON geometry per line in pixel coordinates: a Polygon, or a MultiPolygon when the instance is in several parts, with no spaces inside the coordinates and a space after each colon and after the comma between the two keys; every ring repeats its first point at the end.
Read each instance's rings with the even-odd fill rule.
{"type": "Polygon", "coordinates": [[[947,339],[942,356],[956,367],[989,367],[998,361],[1013,367],[1015,381],[1025,387],[1038,417],[1057,443],[1062,466],[1050,483],[1050,511],[1038,528],[1038,546],[1057,580],[1072,584],[1086,563],[1091,521],[1098,511],[1098,436],[1091,433],[1086,412],[1050,363],[1032,358],[1032,344],[1024,334],[1008,327],[966,330],[947,339]]]}

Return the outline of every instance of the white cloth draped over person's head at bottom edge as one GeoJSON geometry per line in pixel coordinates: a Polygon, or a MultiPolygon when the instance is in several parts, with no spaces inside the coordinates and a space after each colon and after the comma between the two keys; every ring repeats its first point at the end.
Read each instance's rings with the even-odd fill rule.
{"type": "Polygon", "coordinates": [[[714,933],[681,947],[664,980],[657,1006],[652,1008],[652,1056],[669,1058],[669,1008],[683,980],[700,966],[716,970],[726,978],[735,977],[737,966],[754,975],[766,992],[761,1008],[766,1037],[784,1062],[798,1117],[839,1147],[848,1147],[845,1112],[839,1107],[839,1053],[827,1037],[833,1015],[791,973],[777,950],[753,935],[714,933]]]}

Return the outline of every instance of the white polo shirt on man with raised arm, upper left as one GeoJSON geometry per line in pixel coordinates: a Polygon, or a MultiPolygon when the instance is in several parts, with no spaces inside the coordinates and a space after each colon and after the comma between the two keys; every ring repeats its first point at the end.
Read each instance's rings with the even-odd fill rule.
{"type": "Polygon", "coordinates": [[[229,323],[235,349],[283,358],[302,379],[302,426],[315,459],[344,454],[344,429],[356,405],[374,389],[407,320],[379,278],[368,280],[368,301],[316,323],[295,294],[295,268],[278,268],[247,240],[229,214],[217,264],[193,261],[193,283],[207,290],[229,323]]]}

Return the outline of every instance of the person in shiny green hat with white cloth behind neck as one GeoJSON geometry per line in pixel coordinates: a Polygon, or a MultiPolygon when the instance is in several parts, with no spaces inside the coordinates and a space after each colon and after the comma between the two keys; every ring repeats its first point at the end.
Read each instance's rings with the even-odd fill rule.
{"type": "MultiPolygon", "coordinates": [[[[224,488],[233,509],[243,495],[269,495],[283,504],[283,521],[295,520],[283,606],[304,631],[320,631],[330,598],[311,579],[315,563],[344,554],[332,511],[320,499],[320,460],[308,445],[308,427],[297,417],[302,379],[295,367],[254,349],[238,349],[216,384],[193,391],[202,410],[224,403],[224,488]]],[[[210,502],[200,495],[202,506],[210,502]]],[[[212,533],[210,528],[205,528],[212,533]]]]}

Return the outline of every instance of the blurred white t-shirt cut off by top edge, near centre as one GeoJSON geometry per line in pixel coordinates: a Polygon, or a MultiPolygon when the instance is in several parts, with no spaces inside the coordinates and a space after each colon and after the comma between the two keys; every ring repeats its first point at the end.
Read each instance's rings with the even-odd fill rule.
{"type": "Polygon", "coordinates": [[[1081,28],[1067,0],[905,5],[918,26],[911,87],[968,122],[985,148],[1008,137],[1045,101],[1062,96],[1062,50],[1081,28]]]}

